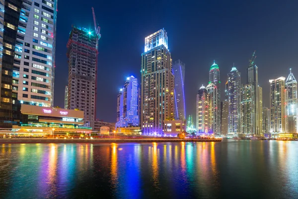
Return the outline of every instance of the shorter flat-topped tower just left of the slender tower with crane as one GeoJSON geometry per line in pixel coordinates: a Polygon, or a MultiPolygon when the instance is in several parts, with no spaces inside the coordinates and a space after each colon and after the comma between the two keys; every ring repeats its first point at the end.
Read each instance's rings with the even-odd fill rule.
{"type": "Polygon", "coordinates": [[[241,129],[240,132],[246,135],[255,134],[255,98],[254,86],[251,84],[241,87],[241,129]]]}

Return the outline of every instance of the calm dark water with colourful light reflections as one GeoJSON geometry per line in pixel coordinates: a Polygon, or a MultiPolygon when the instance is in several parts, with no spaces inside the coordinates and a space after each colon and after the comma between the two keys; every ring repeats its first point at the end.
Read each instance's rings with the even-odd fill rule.
{"type": "Polygon", "coordinates": [[[295,141],[0,147],[1,199],[298,199],[295,141]]]}

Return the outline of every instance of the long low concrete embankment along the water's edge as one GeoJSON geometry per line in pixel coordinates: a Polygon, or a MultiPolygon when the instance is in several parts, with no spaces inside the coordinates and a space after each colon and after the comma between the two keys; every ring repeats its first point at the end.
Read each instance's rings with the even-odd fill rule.
{"type": "Polygon", "coordinates": [[[21,143],[104,143],[104,142],[221,142],[220,139],[38,139],[38,138],[5,138],[0,144],[21,143]]]}

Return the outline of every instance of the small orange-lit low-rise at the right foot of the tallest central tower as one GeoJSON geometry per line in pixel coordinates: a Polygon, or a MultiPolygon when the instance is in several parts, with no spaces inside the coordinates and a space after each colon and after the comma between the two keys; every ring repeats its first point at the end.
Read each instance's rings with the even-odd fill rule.
{"type": "Polygon", "coordinates": [[[179,133],[186,131],[185,120],[165,120],[164,121],[164,136],[177,136],[179,133]]]}

